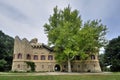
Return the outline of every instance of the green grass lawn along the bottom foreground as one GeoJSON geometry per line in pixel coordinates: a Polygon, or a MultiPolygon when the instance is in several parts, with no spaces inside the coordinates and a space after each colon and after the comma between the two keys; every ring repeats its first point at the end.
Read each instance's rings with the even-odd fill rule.
{"type": "Polygon", "coordinates": [[[27,75],[27,73],[1,73],[0,80],[120,80],[120,73],[85,75],[34,75],[34,73],[27,75]]]}

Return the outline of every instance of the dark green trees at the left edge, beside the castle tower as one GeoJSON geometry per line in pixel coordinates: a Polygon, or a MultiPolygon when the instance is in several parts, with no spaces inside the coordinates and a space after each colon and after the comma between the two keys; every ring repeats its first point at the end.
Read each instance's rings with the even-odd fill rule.
{"type": "Polygon", "coordinates": [[[11,69],[14,39],[2,31],[0,31],[0,60],[4,60],[7,64],[1,67],[0,71],[11,69]]]}

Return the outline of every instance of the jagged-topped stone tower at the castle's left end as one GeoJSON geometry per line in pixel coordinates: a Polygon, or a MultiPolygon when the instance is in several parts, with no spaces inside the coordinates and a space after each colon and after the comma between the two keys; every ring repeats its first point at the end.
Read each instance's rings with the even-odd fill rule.
{"type": "Polygon", "coordinates": [[[29,41],[26,38],[21,40],[16,36],[14,41],[12,71],[26,71],[28,69],[25,61],[27,57],[26,54],[29,53],[32,53],[29,41]]]}

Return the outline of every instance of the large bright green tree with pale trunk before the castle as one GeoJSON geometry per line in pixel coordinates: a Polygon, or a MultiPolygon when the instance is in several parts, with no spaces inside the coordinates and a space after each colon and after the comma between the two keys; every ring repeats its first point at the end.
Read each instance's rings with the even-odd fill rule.
{"type": "Polygon", "coordinates": [[[64,10],[55,7],[44,29],[48,43],[54,46],[56,60],[67,62],[68,72],[71,72],[71,61],[75,56],[85,59],[98,52],[105,42],[106,27],[98,20],[87,21],[83,25],[78,10],[72,11],[70,6],[64,10]]]}

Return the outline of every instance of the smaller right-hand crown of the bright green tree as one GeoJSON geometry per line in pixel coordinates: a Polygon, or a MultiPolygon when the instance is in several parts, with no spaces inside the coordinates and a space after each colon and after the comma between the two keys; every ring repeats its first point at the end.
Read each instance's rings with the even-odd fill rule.
{"type": "Polygon", "coordinates": [[[106,30],[107,28],[101,23],[101,20],[87,21],[84,24],[84,27],[80,31],[80,35],[85,40],[83,42],[88,43],[85,46],[87,49],[89,49],[88,51],[95,53],[98,52],[96,50],[98,50],[100,47],[106,45],[106,30]]]}

